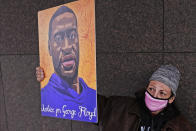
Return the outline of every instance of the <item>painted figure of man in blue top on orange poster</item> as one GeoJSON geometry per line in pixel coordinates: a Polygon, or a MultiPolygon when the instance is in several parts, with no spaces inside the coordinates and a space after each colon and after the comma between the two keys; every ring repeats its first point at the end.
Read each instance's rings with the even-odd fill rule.
{"type": "Polygon", "coordinates": [[[56,8],[50,18],[47,44],[53,73],[41,88],[41,112],[42,116],[97,122],[96,89],[79,76],[78,26],[75,12],[66,5],[56,8]]]}

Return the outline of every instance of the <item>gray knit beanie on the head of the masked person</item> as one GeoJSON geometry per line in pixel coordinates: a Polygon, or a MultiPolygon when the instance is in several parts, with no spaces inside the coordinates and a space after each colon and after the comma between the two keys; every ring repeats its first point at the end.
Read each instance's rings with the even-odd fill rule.
{"type": "Polygon", "coordinates": [[[152,74],[150,81],[151,80],[159,81],[167,85],[176,96],[180,80],[180,72],[172,65],[162,65],[152,74]]]}

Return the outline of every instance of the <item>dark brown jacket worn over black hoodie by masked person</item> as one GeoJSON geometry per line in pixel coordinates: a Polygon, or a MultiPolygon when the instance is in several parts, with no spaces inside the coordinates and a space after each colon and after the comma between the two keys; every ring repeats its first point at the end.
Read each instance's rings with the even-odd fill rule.
{"type": "MultiPolygon", "coordinates": [[[[98,116],[101,131],[138,131],[141,124],[141,105],[136,98],[98,96],[98,116]]],[[[169,119],[161,131],[192,131],[180,114],[169,119]]]]}

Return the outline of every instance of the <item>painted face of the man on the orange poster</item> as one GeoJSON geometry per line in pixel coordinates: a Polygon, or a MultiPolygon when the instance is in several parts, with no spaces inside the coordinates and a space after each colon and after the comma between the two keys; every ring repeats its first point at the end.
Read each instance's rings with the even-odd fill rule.
{"type": "Polygon", "coordinates": [[[63,78],[74,78],[78,74],[79,40],[77,20],[73,13],[65,12],[52,23],[49,52],[55,72],[63,78]]]}

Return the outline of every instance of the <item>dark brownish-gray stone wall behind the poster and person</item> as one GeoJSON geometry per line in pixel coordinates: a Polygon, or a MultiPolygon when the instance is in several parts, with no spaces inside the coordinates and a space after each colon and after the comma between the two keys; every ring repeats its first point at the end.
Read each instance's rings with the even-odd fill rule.
{"type": "MultiPolygon", "coordinates": [[[[1,131],[99,130],[40,115],[37,12],[70,1],[0,0],[1,131]]],[[[172,63],[182,73],[176,103],[196,129],[195,14],[195,0],[96,0],[98,92],[132,96],[172,63]]]]}

